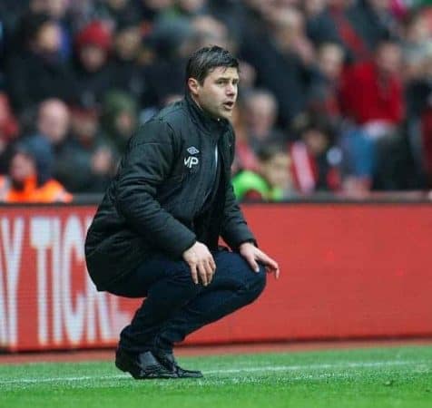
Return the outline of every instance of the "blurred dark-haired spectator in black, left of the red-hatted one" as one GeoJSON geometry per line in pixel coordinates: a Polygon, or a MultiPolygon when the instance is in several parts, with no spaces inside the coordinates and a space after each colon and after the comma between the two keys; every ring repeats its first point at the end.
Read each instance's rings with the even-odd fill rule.
{"type": "Polygon", "coordinates": [[[16,112],[34,109],[38,102],[58,97],[69,100],[71,73],[60,53],[61,32],[48,15],[27,14],[20,22],[22,48],[6,64],[6,86],[16,112]]]}

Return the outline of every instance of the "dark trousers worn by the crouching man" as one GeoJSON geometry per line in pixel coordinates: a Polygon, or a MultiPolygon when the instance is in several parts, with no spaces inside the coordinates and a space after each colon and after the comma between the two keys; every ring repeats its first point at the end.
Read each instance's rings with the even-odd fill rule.
{"type": "Polygon", "coordinates": [[[266,284],[264,267],[254,272],[241,255],[226,250],[212,255],[216,272],[207,287],[192,282],[186,262],[162,255],[150,258],[110,287],[114,295],[146,296],[131,324],[123,328],[119,347],[131,353],[170,352],[186,335],[260,296],[266,284]]]}

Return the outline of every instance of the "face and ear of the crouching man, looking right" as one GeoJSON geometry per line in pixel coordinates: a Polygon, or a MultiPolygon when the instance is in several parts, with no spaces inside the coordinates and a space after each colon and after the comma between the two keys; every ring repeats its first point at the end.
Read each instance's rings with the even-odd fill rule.
{"type": "Polygon", "coordinates": [[[195,81],[194,85],[190,85],[191,94],[203,111],[214,118],[231,119],[239,85],[237,68],[217,67],[202,84],[195,81]]]}

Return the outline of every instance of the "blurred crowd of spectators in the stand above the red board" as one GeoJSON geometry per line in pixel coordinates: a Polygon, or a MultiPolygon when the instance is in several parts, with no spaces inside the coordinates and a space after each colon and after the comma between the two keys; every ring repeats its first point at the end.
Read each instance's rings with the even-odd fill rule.
{"type": "Polygon", "coordinates": [[[0,200],[100,193],[195,49],[241,61],[239,199],[432,187],[421,0],[1,0],[0,200]]]}

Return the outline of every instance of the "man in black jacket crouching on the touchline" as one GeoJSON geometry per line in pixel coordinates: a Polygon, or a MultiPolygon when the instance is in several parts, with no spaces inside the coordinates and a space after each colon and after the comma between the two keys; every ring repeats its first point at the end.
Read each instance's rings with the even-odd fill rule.
{"type": "Polygon", "coordinates": [[[186,95],[131,139],[87,233],[99,290],[146,297],[123,328],[115,364],[136,379],[201,377],[172,348],[253,302],[266,269],[231,186],[239,63],[218,46],[191,55],[186,95]],[[223,238],[232,252],[219,248],[223,238]]]}

